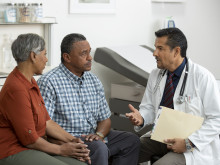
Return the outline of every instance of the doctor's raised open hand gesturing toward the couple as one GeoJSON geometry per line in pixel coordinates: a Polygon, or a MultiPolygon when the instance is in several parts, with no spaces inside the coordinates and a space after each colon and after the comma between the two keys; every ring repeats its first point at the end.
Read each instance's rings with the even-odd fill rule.
{"type": "Polygon", "coordinates": [[[128,117],[130,119],[130,121],[132,122],[133,125],[143,125],[144,124],[144,120],[140,114],[140,112],[135,109],[131,104],[128,105],[128,107],[130,108],[131,112],[130,113],[126,113],[126,117],[128,117]]]}

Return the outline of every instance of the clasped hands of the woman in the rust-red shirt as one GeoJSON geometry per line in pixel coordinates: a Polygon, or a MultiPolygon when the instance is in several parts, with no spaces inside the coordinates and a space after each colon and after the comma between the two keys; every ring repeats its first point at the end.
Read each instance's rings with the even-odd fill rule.
{"type": "Polygon", "coordinates": [[[91,164],[89,153],[90,150],[87,149],[87,145],[82,143],[68,142],[60,146],[60,155],[73,157],[91,164]]]}

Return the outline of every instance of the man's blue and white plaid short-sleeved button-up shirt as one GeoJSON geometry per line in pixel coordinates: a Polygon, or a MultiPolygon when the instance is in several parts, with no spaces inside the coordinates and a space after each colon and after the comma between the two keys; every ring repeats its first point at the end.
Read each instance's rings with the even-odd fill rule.
{"type": "Polygon", "coordinates": [[[97,122],[111,116],[103,85],[91,72],[78,77],[60,64],[38,85],[51,119],[74,136],[95,133],[97,122]]]}

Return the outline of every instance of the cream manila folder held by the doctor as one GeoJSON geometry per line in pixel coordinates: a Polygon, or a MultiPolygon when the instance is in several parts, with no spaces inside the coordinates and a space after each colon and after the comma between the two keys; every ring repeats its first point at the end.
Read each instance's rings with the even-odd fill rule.
{"type": "Polygon", "coordinates": [[[204,118],[162,107],[151,139],[164,143],[165,139],[187,138],[200,129],[204,118]]]}

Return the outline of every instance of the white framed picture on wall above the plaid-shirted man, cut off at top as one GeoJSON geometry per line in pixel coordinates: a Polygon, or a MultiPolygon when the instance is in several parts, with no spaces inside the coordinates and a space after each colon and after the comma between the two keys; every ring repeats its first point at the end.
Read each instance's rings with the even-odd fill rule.
{"type": "Polygon", "coordinates": [[[70,0],[70,13],[115,13],[116,0],[70,0]]]}

